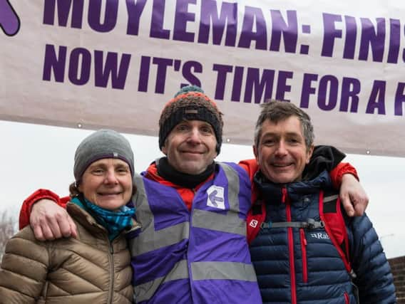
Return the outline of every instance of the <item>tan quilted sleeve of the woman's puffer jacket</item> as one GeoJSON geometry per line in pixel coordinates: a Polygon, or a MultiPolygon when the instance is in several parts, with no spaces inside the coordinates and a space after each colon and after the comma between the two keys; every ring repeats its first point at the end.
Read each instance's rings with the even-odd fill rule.
{"type": "Polygon", "coordinates": [[[0,269],[0,303],[37,303],[48,273],[46,244],[35,241],[31,227],[7,242],[0,269]]]}

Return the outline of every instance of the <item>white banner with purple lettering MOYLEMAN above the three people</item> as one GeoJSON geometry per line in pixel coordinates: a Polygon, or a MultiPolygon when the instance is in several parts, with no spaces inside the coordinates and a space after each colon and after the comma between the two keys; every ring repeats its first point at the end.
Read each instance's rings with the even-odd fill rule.
{"type": "Polygon", "coordinates": [[[316,143],[405,157],[405,4],[398,0],[0,0],[0,119],[158,135],[200,85],[225,142],[252,144],[270,98],[316,143]]]}

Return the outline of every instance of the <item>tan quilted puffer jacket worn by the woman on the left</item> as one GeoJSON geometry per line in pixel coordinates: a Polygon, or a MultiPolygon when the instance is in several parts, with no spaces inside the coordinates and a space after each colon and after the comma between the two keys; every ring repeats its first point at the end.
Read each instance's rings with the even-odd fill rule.
{"type": "MultiPolygon", "coordinates": [[[[36,241],[31,227],[6,245],[0,303],[132,303],[132,269],[125,236],[110,243],[106,229],[75,204],[66,206],[78,238],[36,241]]],[[[133,229],[138,229],[134,226],[133,229]]]]}

